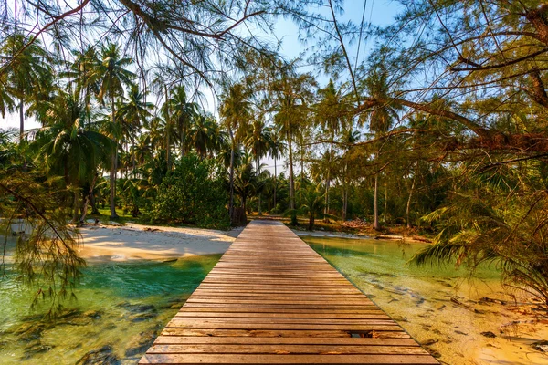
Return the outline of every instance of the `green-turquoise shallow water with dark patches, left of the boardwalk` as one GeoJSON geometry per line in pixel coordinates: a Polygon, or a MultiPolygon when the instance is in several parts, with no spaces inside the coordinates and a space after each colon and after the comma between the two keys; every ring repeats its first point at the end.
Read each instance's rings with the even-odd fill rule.
{"type": "Polygon", "coordinates": [[[8,266],[0,280],[0,363],[74,364],[94,349],[136,363],[220,257],[92,264],[77,300],[64,303],[54,321],[43,319],[47,308],[30,311],[33,293],[8,266]]]}

